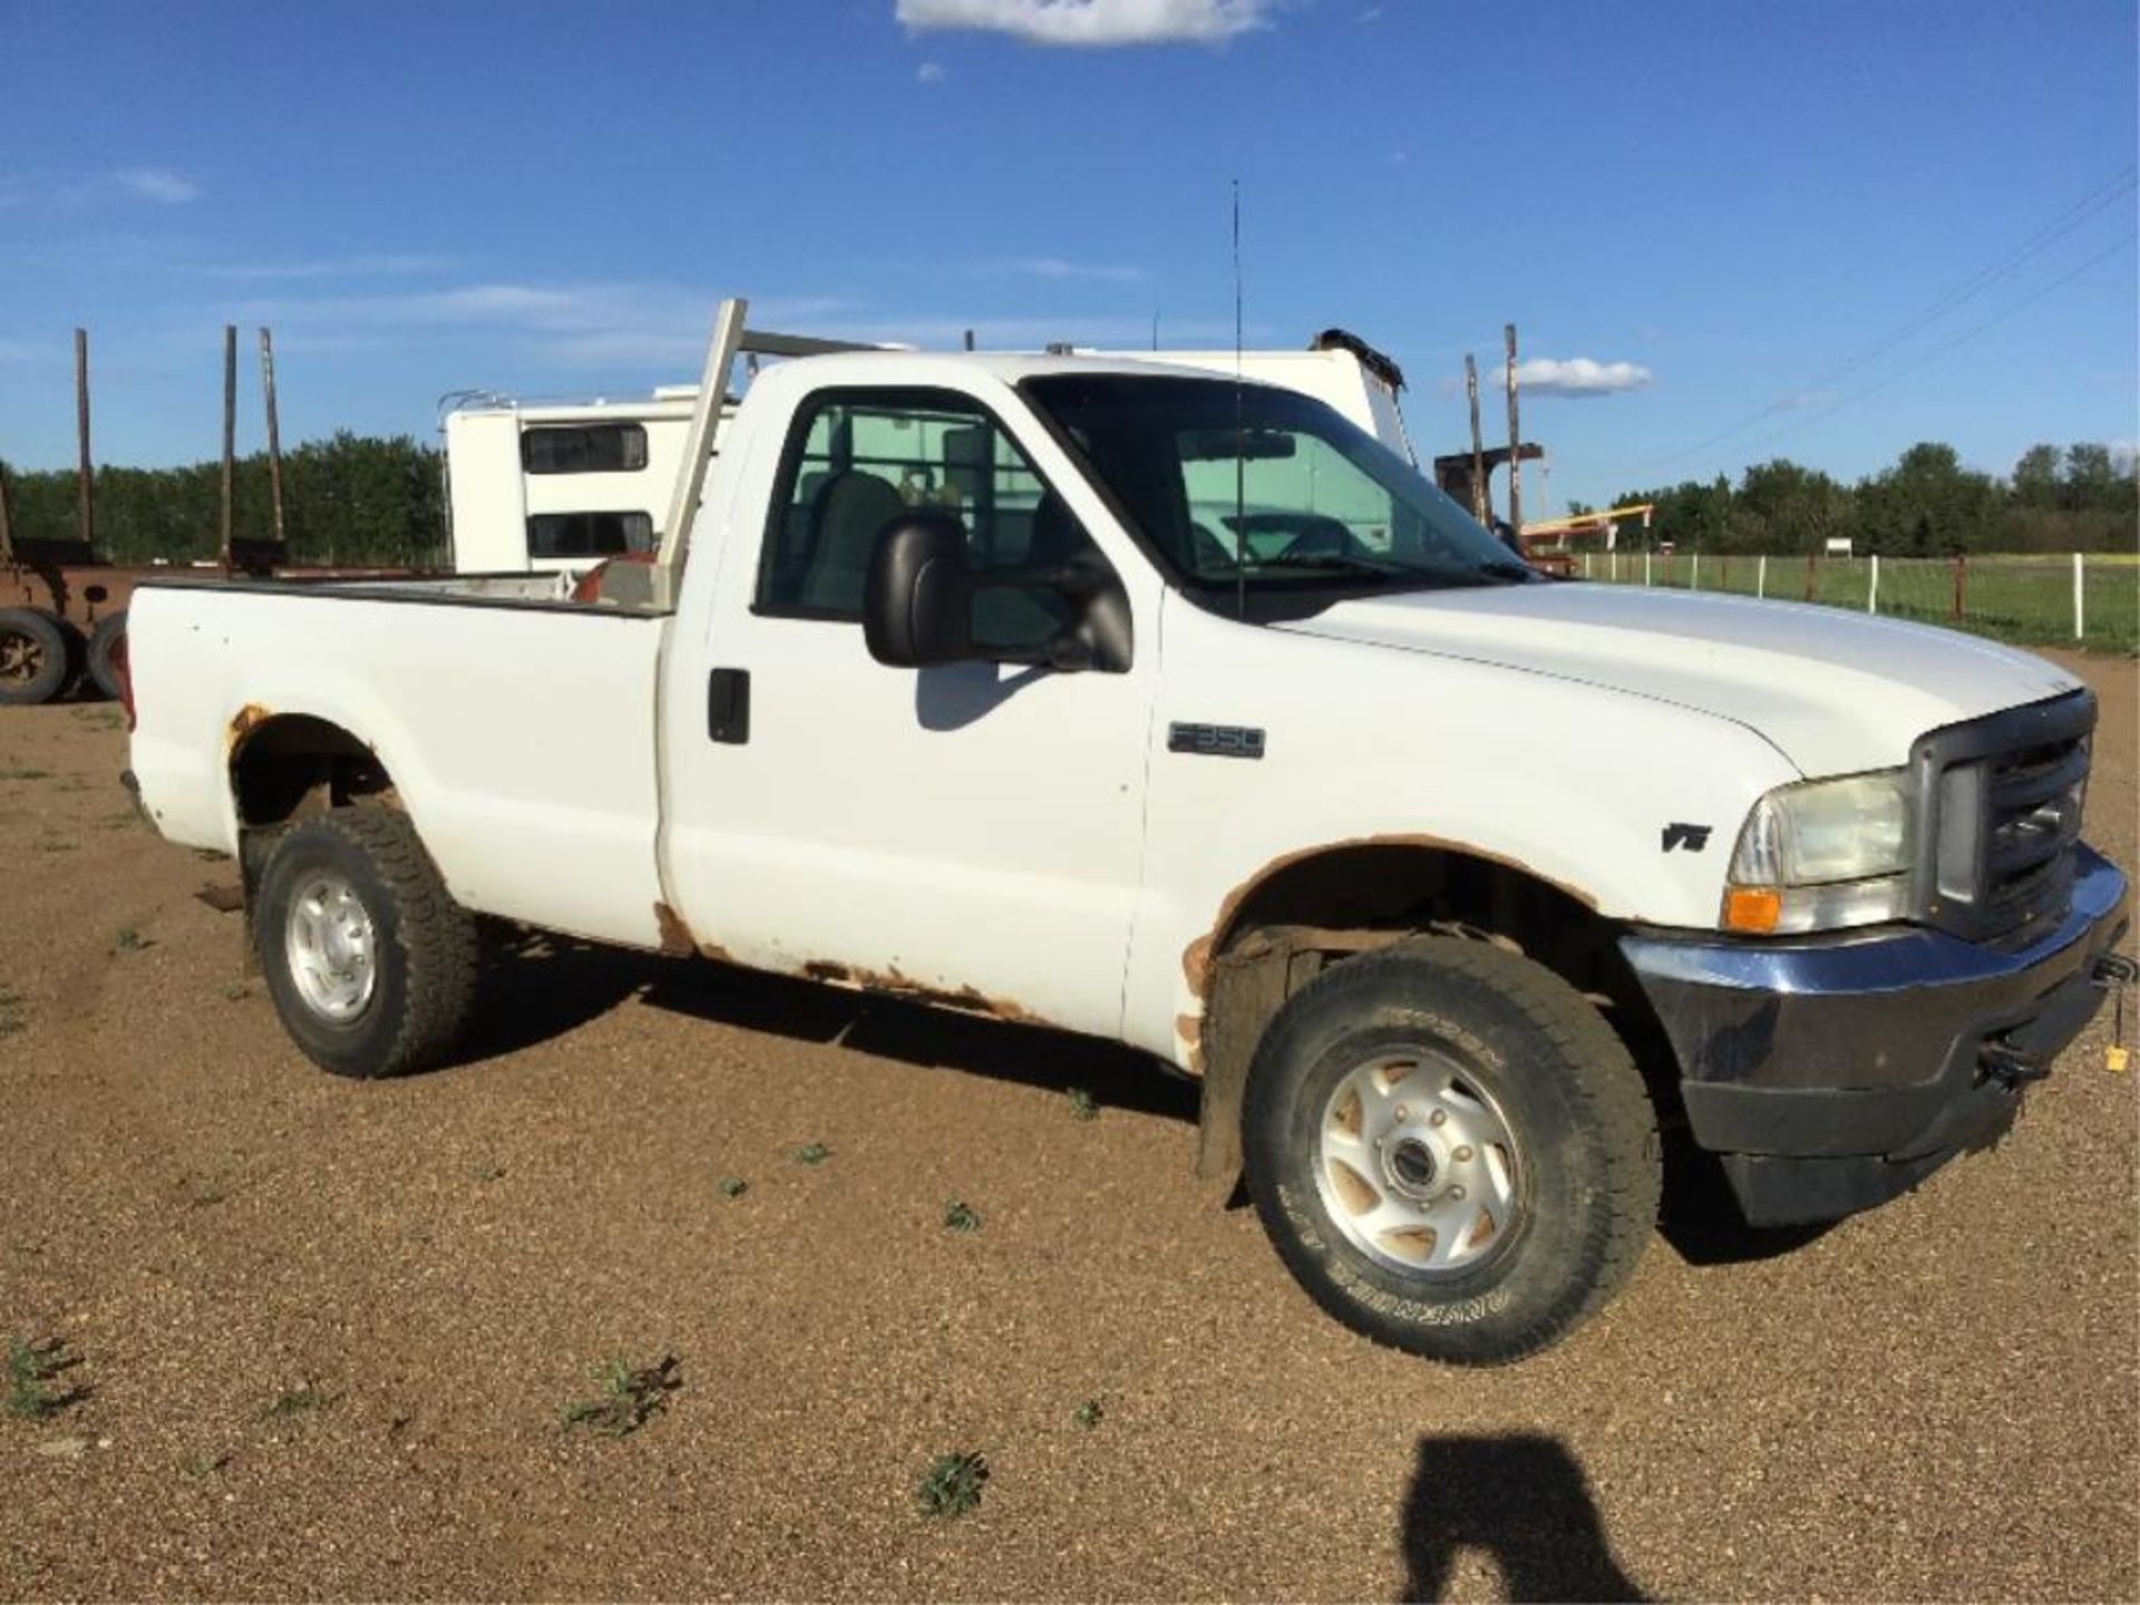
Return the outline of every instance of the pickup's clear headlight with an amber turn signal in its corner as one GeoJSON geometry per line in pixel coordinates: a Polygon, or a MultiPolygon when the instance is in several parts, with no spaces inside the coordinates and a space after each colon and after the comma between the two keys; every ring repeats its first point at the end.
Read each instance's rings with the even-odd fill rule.
{"type": "Polygon", "coordinates": [[[1740,830],[1723,927],[1795,935],[1900,918],[1909,837],[1909,785],[1898,768],[1780,785],[1740,830]]]}

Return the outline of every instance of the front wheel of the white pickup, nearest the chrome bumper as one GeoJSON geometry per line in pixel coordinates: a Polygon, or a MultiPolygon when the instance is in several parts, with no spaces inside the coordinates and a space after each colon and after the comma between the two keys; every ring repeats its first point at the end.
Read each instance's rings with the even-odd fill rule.
{"type": "Polygon", "coordinates": [[[1558,976],[1479,942],[1404,942],[1295,993],[1250,1066],[1241,1138],[1308,1295],[1455,1365],[1571,1333],[1656,1224],[1656,1113],[1626,1049],[1558,976]]]}

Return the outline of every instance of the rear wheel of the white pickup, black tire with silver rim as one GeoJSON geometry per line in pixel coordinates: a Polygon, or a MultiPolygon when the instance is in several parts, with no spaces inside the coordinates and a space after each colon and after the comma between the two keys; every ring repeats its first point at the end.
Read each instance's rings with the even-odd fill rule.
{"type": "Polygon", "coordinates": [[[475,920],[400,813],[336,809],[291,828],[261,873],[253,931],[282,1029],[321,1070],[428,1070],[460,1040],[475,920]]]}

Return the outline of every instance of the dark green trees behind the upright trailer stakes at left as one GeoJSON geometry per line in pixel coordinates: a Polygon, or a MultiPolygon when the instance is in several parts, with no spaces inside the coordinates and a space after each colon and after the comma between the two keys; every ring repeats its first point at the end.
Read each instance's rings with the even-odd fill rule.
{"type": "MultiPolygon", "coordinates": [[[[282,454],[282,518],[297,563],[447,563],[445,460],[407,434],[338,430],[282,454]]],[[[6,477],[17,541],[77,535],[75,473],[6,477]]],[[[223,462],[96,471],[96,552],[113,563],[214,561],[223,544],[223,462]]],[[[240,458],[231,479],[231,533],[274,539],[268,454],[240,458]]]]}

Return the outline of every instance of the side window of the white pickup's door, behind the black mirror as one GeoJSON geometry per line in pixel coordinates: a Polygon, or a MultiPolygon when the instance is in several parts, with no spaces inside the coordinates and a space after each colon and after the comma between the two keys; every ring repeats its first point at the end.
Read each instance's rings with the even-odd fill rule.
{"type": "MultiPolygon", "coordinates": [[[[758,612],[862,616],[877,535],[912,509],[954,516],[974,569],[1053,567],[1091,539],[997,422],[939,392],[830,392],[798,417],[773,499],[758,612]]],[[[1051,638],[1068,603],[1042,588],[987,588],[974,633],[991,646],[1051,638]]]]}

